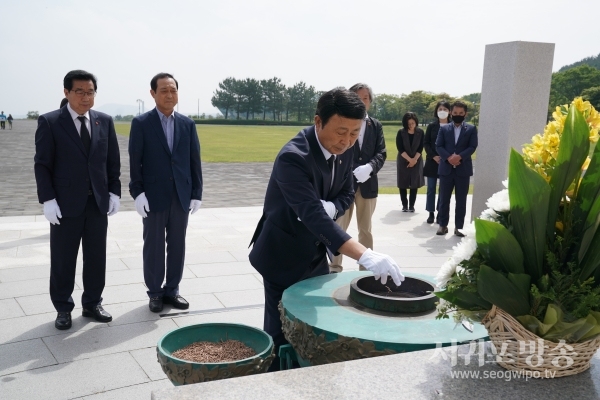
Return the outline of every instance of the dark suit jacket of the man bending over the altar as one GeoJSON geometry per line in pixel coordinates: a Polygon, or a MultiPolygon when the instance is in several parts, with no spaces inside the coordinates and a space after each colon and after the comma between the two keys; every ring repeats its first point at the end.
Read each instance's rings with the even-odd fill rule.
{"type": "Polygon", "coordinates": [[[321,199],[341,216],[354,201],[352,151],[337,157],[331,171],[317,142],[314,126],[306,128],[279,152],[267,186],[263,216],[250,244],[250,263],[268,281],[284,286],[308,270],[323,243],[333,253],[350,236],[327,215],[321,199]]]}

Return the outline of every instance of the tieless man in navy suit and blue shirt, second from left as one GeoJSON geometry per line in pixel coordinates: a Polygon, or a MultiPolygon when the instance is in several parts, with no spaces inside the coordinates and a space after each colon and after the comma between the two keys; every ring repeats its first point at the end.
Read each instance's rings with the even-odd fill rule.
{"type": "Polygon", "coordinates": [[[200,142],[191,119],[175,112],[179,84],[171,74],[150,81],[156,108],[131,122],[129,190],[144,224],[144,281],[149,308],[187,309],[179,295],[188,213],[202,204],[200,142]],[[165,233],[167,243],[165,280],[165,233]]]}

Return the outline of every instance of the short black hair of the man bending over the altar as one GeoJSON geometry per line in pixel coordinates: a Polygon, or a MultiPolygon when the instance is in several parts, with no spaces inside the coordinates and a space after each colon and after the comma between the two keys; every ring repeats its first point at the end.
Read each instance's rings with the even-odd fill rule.
{"type": "Polygon", "coordinates": [[[367,109],[358,95],[343,87],[337,87],[323,93],[317,102],[316,115],[323,126],[334,115],[350,119],[364,119],[367,109]]]}

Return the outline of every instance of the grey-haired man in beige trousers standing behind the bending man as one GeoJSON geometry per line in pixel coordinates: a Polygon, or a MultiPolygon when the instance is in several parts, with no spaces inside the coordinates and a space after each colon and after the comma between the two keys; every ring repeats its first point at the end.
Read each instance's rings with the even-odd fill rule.
{"type": "MultiPolygon", "coordinates": [[[[373,91],[366,83],[357,83],[350,88],[365,104],[369,111],[373,101],[373,91]]],[[[381,123],[373,117],[365,115],[361,122],[358,139],[352,146],[352,174],[354,182],[354,201],[350,203],[348,211],[336,220],[336,223],[346,231],[356,206],[356,226],[358,228],[358,242],[368,249],[373,249],[373,233],[371,232],[371,219],[377,205],[379,181],[377,173],[383,167],[387,158],[385,138],[381,123]]],[[[343,256],[335,256],[329,264],[331,272],[342,272],[343,256]]],[[[364,270],[362,265],[359,269],[364,270]]]]}

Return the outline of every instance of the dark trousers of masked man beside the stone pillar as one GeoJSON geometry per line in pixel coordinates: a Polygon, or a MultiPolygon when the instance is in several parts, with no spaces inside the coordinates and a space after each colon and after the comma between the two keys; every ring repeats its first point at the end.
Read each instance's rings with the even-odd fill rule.
{"type": "Polygon", "coordinates": [[[450,175],[440,175],[440,209],[438,211],[438,223],[440,226],[448,226],[450,221],[450,198],[454,190],[456,208],[454,210],[454,227],[462,229],[467,213],[467,194],[469,194],[470,176],[458,176],[452,170],[450,175]]]}

